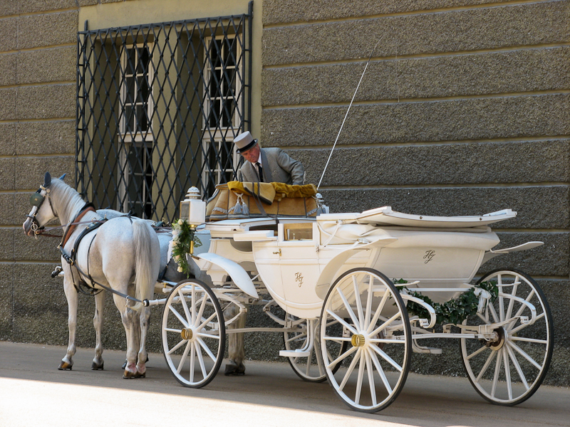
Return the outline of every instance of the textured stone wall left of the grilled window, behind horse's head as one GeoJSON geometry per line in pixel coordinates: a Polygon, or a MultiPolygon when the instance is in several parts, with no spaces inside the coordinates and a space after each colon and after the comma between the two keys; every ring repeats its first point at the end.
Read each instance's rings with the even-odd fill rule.
{"type": "MultiPolygon", "coordinates": [[[[62,280],[50,275],[58,241],[27,238],[21,224],[46,171],[74,185],[78,10],[109,2],[0,0],[0,339],[67,344],[62,280]]],[[[93,310],[81,296],[83,347],[94,346],[93,310]]],[[[125,348],[110,301],[106,312],[105,347],[125,348]]]]}

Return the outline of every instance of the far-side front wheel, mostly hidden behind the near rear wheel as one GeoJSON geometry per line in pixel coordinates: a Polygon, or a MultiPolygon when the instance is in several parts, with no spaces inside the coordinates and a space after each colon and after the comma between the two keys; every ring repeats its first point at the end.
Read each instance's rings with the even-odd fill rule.
{"type": "MultiPolygon", "coordinates": [[[[291,368],[299,378],[304,381],[309,382],[323,382],[326,380],[326,371],[323,366],[323,357],[321,355],[321,339],[319,339],[319,330],[321,323],[316,320],[306,320],[301,325],[299,325],[299,331],[295,332],[284,332],[284,342],[286,350],[296,350],[303,349],[306,347],[307,340],[307,330],[312,325],[314,328],[314,345],[309,351],[309,357],[287,357],[291,368]]],[[[338,333],[342,334],[343,327],[338,323],[337,320],[331,320],[328,324],[329,328],[336,328],[338,333]],[[335,326],[336,325],[336,326],[335,326]]],[[[336,345],[336,343],[330,342],[327,346],[328,356],[333,354],[332,359],[338,358],[343,352],[346,351],[348,342],[341,342],[341,345],[336,345]]],[[[336,364],[332,368],[333,373],[338,371],[341,364],[336,364]]]]}

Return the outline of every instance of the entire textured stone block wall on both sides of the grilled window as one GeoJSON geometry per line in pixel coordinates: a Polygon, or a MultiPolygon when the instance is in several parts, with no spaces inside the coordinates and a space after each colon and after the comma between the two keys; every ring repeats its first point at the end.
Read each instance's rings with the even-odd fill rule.
{"type": "MultiPolygon", "coordinates": [[[[74,182],[78,11],[115,1],[124,0],[0,0],[0,339],[67,342],[61,279],[49,277],[56,244],[25,238],[21,223],[44,172],[74,182]]],[[[255,1],[262,144],[287,149],[318,183],[372,56],[323,176],[327,204],[517,211],[497,225],[502,246],[545,245],[494,258],[480,273],[507,266],[539,280],[555,324],[546,382],[569,385],[570,1],[255,1]]],[[[80,297],[80,313],[78,345],[93,347],[92,299],[80,297]]],[[[125,348],[110,299],[105,315],[104,346],[125,348]]],[[[254,310],[248,322],[264,319],[254,310]]],[[[275,359],[279,334],[264,339],[271,349],[259,342],[247,336],[247,356],[275,359]]],[[[441,345],[442,356],[415,354],[414,369],[462,374],[457,343],[441,345]]]]}

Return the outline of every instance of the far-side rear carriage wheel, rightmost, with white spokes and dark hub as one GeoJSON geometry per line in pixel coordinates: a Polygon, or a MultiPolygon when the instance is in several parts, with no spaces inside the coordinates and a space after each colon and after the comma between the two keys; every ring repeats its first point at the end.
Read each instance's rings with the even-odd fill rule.
{"type": "Polygon", "coordinates": [[[481,282],[497,285],[499,295],[482,315],[464,324],[496,324],[496,337],[493,342],[461,339],[463,364],[484,399],[504,406],[520,404],[537,391],[550,365],[550,308],[539,285],[520,271],[496,270],[477,283],[481,282]]]}

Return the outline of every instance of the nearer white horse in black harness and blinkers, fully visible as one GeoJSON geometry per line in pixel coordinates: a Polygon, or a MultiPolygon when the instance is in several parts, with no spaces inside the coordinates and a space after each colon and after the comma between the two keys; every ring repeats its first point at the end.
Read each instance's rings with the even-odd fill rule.
{"type": "MultiPolygon", "coordinates": [[[[155,231],[147,221],[119,216],[87,233],[81,243],[76,245],[87,225],[70,224],[81,220],[90,221],[93,218],[101,220],[102,215],[94,209],[86,209],[86,202],[76,190],[61,179],[52,180],[48,173],[43,186],[33,194],[31,201],[34,206],[23,226],[26,235],[32,236],[38,227],[43,227],[54,218],[58,218],[65,227],[61,262],[64,272],[63,289],[68,300],[69,344],[58,369],[73,367],[72,358],[76,353],[77,287],[80,281],[83,281],[93,285],[95,289],[105,287],[113,290],[113,299],[123,320],[127,337],[127,364],[123,378],[144,377],[150,308],[144,307],[140,302],[133,304],[133,301],[152,297],[160,268],[160,245],[155,231]],[[73,265],[66,261],[68,257],[74,258],[73,265]]],[[[93,325],[96,344],[92,369],[103,369],[100,331],[103,325],[104,301],[104,292],[95,295],[93,325]]]]}

